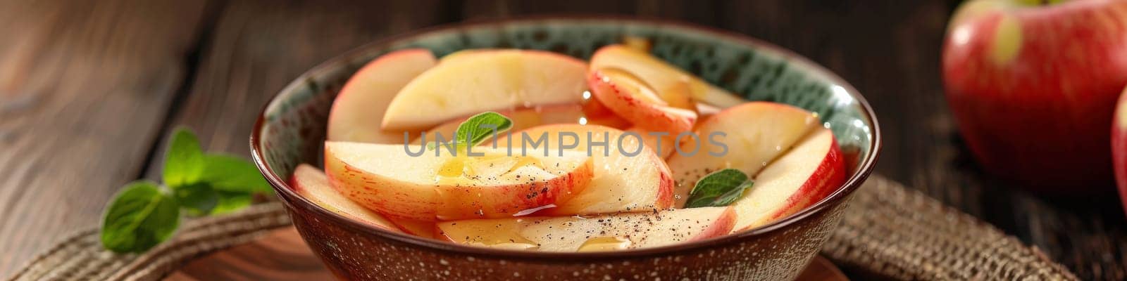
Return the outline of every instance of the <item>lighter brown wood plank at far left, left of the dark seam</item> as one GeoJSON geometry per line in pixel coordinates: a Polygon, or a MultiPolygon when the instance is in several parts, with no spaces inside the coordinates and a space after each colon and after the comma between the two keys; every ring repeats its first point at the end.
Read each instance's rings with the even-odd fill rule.
{"type": "Polygon", "coordinates": [[[136,179],[204,1],[0,1],[0,277],[136,179]]]}

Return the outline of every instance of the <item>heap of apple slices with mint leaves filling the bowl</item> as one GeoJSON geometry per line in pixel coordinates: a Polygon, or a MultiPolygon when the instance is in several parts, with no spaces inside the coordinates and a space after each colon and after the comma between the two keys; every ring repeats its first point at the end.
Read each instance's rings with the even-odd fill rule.
{"type": "Polygon", "coordinates": [[[620,45],[589,65],[541,51],[441,61],[398,51],[357,72],[335,101],[328,180],[303,180],[320,178],[303,165],[294,182],[319,205],[385,229],[556,252],[738,233],[844,183],[841,151],[816,114],[717,89],[620,45]]]}

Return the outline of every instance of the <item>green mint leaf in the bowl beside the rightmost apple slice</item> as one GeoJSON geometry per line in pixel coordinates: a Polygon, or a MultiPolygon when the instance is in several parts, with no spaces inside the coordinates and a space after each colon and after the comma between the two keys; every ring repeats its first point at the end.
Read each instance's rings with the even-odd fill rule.
{"type": "Polygon", "coordinates": [[[736,169],[725,169],[716,171],[696,181],[696,185],[689,192],[689,200],[685,208],[698,207],[721,207],[728,206],[744,196],[744,191],[752,188],[754,181],[747,179],[747,174],[736,169]]]}

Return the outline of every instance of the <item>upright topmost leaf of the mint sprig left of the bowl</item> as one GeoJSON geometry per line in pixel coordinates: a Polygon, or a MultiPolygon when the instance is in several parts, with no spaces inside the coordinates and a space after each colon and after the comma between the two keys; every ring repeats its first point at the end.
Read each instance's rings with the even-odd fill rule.
{"type": "Polygon", "coordinates": [[[204,152],[199,139],[187,128],[177,128],[165,152],[165,184],[181,187],[196,183],[204,171],[204,152]]]}

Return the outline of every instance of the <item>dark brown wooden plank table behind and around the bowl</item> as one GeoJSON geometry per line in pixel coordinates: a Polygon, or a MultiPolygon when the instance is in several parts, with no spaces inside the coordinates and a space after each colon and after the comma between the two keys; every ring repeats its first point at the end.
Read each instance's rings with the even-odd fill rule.
{"type": "Polygon", "coordinates": [[[247,154],[260,107],[336,54],[445,22],[598,12],[716,26],[822,63],[877,110],[879,173],[1037,245],[1082,279],[1127,278],[1127,220],[1115,196],[1029,196],[969,161],[939,74],[955,2],[0,1],[0,277],[96,225],[122,184],[157,179],[176,126],[194,128],[211,151],[247,154]]]}

